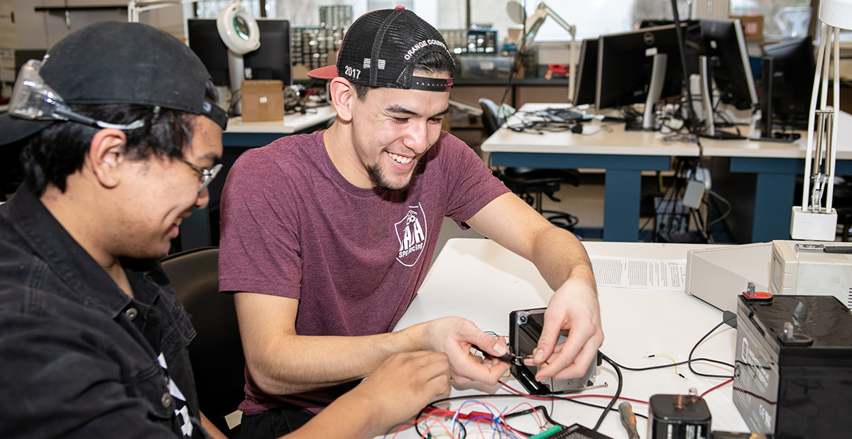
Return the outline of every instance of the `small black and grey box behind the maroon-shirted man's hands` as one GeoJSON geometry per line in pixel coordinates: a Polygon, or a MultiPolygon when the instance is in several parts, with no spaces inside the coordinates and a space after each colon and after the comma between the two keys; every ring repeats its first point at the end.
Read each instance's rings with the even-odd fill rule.
{"type": "MultiPolygon", "coordinates": [[[[521,309],[509,313],[510,354],[521,358],[533,355],[533,350],[538,346],[538,338],[541,337],[541,331],[544,327],[544,310],[545,308],[521,309]]],[[[567,336],[567,330],[559,332],[556,344],[563,343],[567,336]]],[[[511,371],[515,379],[523,384],[531,395],[549,395],[579,391],[595,384],[597,367],[600,364],[601,355],[598,354],[596,361],[591,362],[584,376],[573,379],[547,378],[543,381],[537,381],[535,374],[538,372],[538,367],[525,366],[522,363],[518,364],[518,362],[512,362],[511,371]]]]}

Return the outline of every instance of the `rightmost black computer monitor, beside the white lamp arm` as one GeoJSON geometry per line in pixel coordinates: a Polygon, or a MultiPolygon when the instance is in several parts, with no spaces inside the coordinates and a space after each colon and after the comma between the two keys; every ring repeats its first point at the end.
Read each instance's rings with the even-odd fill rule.
{"type": "Polygon", "coordinates": [[[784,130],[807,129],[816,71],[813,41],[805,37],[770,44],[763,46],[763,55],[772,58],[773,123],[784,130]]]}

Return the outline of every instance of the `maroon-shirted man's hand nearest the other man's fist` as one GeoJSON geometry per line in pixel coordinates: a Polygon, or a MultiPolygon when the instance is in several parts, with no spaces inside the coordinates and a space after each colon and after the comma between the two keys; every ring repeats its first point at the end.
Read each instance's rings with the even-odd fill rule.
{"type": "Polygon", "coordinates": [[[488,355],[504,355],[509,349],[502,341],[480,331],[472,321],[460,317],[444,317],[423,325],[423,341],[428,349],[446,353],[450,359],[452,380],[456,384],[480,381],[497,384],[509,370],[504,361],[483,361],[470,352],[475,345],[488,355]]]}

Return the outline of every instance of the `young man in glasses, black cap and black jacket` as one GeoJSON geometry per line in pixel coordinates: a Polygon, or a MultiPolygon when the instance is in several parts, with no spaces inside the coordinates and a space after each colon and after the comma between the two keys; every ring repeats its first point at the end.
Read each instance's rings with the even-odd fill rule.
{"type": "MultiPolygon", "coordinates": [[[[222,437],[158,263],[221,168],[215,101],[186,45],[135,23],[85,27],[21,70],[0,116],[27,172],[0,205],[0,437],[222,437]]],[[[448,389],[446,355],[397,355],[295,435],[364,436],[448,389]]]]}

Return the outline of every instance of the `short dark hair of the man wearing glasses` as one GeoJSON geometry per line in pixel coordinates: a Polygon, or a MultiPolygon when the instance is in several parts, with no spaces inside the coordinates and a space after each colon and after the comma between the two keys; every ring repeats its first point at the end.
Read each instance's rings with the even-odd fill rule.
{"type": "MultiPolygon", "coordinates": [[[[216,88],[209,84],[205,98],[216,102],[216,88]]],[[[151,156],[181,158],[190,143],[196,115],[137,104],[70,105],[75,113],[110,124],[130,124],[142,119],[145,125],[126,130],[127,154],[141,160],[151,156]]],[[[101,129],[86,124],[59,122],[29,139],[20,154],[26,184],[43,194],[48,183],[66,190],[67,176],[83,169],[92,139],[101,129]]]]}

